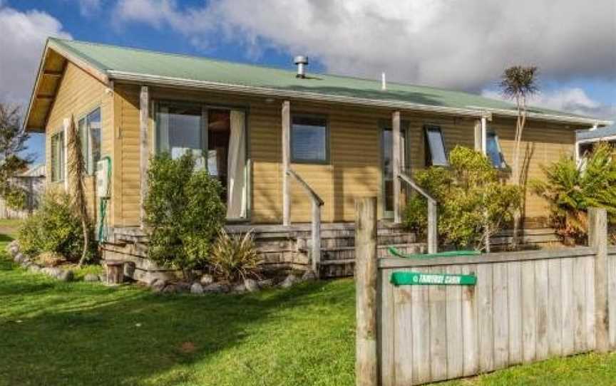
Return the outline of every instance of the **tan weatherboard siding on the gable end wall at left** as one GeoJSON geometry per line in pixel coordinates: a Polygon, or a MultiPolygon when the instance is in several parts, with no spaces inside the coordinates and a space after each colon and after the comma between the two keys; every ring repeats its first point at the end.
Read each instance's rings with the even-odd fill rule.
{"type": "MultiPolygon", "coordinates": [[[[64,183],[51,183],[51,137],[56,132],[63,130],[63,120],[73,117],[77,123],[83,116],[91,113],[96,108],[101,108],[101,157],[111,154],[112,135],[111,127],[113,122],[113,100],[106,92],[106,86],[100,81],[93,78],[88,73],[81,70],[73,63],[67,63],[66,70],[63,74],[56,100],[53,103],[53,108],[49,113],[49,118],[46,125],[46,140],[45,154],[46,170],[48,187],[58,188],[64,187],[64,183]]],[[[68,133],[65,141],[69,139],[68,133]]],[[[68,142],[66,142],[68,143],[68,142]]],[[[70,155],[71,152],[68,151],[70,155]]],[[[70,163],[70,160],[69,160],[70,163]]],[[[65,172],[65,179],[67,178],[65,172]]],[[[69,182],[70,176],[68,176],[69,182]]],[[[71,182],[72,183],[72,182],[71,182]]],[[[95,213],[95,192],[94,192],[94,177],[87,177],[86,199],[88,200],[88,212],[95,213]]]]}

